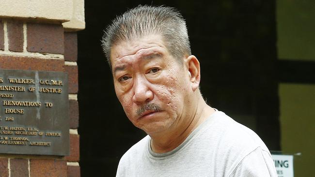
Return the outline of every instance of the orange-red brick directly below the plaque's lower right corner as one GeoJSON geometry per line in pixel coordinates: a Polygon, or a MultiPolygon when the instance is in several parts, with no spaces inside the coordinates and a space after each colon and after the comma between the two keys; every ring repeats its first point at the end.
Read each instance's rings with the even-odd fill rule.
{"type": "Polygon", "coordinates": [[[67,162],[53,159],[31,159],[31,177],[67,177],[67,162]]]}

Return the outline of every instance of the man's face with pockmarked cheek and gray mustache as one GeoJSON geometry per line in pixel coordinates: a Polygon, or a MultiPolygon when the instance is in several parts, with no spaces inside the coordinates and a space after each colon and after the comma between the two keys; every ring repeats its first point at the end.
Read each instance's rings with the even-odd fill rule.
{"type": "Polygon", "coordinates": [[[151,134],[178,124],[189,102],[188,70],[160,35],[116,44],[110,60],[116,95],[136,127],[151,134]]]}

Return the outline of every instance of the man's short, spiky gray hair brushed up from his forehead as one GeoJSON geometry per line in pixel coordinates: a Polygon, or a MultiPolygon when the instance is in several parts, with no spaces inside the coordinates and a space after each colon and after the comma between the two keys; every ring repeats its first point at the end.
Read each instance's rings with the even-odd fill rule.
{"type": "Polygon", "coordinates": [[[185,55],[191,55],[186,22],[176,9],[139,5],[117,16],[105,29],[101,42],[109,64],[114,44],[150,34],[161,35],[168,50],[181,63],[185,55]]]}

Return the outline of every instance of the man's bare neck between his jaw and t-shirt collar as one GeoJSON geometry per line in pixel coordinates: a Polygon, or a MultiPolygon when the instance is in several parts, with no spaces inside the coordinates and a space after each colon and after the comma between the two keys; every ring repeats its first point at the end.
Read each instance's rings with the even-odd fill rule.
{"type": "Polygon", "coordinates": [[[191,115],[179,118],[167,132],[150,134],[152,150],[157,153],[164,153],[178,147],[192,131],[215,112],[213,108],[205,103],[201,94],[194,110],[191,115]]]}

